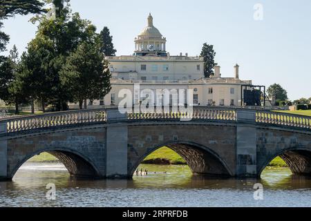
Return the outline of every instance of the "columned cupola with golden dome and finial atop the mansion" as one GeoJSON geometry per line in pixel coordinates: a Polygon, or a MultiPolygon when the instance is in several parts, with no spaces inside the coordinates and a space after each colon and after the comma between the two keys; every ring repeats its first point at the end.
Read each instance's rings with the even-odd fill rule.
{"type": "Polygon", "coordinates": [[[153,17],[149,14],[147,27],[135,37],[135,55],[167,56],[165,44],[167,39],[162,37],[158,28],[153,26],[153,17]]]}

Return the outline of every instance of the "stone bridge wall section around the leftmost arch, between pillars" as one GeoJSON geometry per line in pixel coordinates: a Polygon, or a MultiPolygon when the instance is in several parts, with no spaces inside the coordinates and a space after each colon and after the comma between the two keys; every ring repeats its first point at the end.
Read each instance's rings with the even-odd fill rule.
{"type": "Polygon", "coordinates": [[[106,175],[106,128],[59,131],[8,140],[8,177],[32,156],[48,152],[67,167],[72,175],[106,175]]]}

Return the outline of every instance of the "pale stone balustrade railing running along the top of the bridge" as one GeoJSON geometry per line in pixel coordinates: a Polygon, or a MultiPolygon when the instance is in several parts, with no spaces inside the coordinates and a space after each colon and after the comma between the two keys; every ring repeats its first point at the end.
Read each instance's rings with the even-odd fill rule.
{"type": "MultiPolygon", "coordinates": [[[[14,133],[19,131],[28,131],[37,128],[50,128],[54,126],[66,126],[74,124],[89,124],[96,122],[107,122],[109,111],[118,111],[117,108],[96,108],[79,111],[64,111],[58,113],[46,113],[43,115],[30,115],[21,117],[11,117],[0,120],[0,135],[14,133]]],[[[142,110],[137,107],[131,108],[124,115],[125,121],[140,120],[202,120],[213,122],[241,122],[237,113],[245,113],[250,117],[247,123],[269,124],[277,126],[287,126],[293,128],[311,129],[311,117],[291,115],[288,113],[277,113],[272,111],[256,111],[238,108],[220,108],[220,107],[193,107],[192,111],[187,108],[164,107],[153,110],[142,110]],[[238,112],[240,111],[240,112],[238,112]]],[[[112,112],[111,112],[112,113],[112,112]]],[[[114,115],[109,115],[113,116],[114,115]]],[[[245,114],[244,114],[245,116],[245,114]]],[[[113,118],[114,119],[114,118],[113,118]]],[[[119,119],[115,119],[118,121],[119,119]]],[[[108,120],[109,122],[109,120],[108,120]]]]}

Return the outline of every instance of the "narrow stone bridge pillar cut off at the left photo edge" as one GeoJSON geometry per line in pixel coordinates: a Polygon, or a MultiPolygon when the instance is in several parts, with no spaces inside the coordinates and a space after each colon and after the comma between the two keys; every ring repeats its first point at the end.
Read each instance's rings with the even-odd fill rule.
{"type": "Polygon", "coordinates": [[[8,142],[6,140],[6,122],[0,122],[0,180],[8,176],[8,142]]]}

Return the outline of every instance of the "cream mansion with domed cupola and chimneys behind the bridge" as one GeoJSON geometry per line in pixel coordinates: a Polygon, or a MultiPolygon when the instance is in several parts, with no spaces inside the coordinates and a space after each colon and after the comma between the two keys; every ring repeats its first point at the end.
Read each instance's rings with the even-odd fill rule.
{"type": "MultiPolygon", "coordinates": [[[[155,94],[157,89],[194,89],[194,105],[239,106],[241,86],[252,84],[250,80],[239,79],[237,64],[234,77],[221,77],[220,66],[216,66],[214,77],[205,78],[202,57],[189,57],[187,53],[169,55],[167,39],[153,26],[151,15],[147,27],[135,37],[134,42],[133,55],[106,57],[110,63],[112,89],[91,105],[117,105],[123,99],[118,97],[120,90],[127,88],[134,92],[134,84],[140,84],[141,91],[147,88],[155,90],[155,94]]],[[[143,97],[133,97],[133,104],[138,104],[143,97]]],[[[154,99],[157,101],[161,97],[154,99]]]]}

